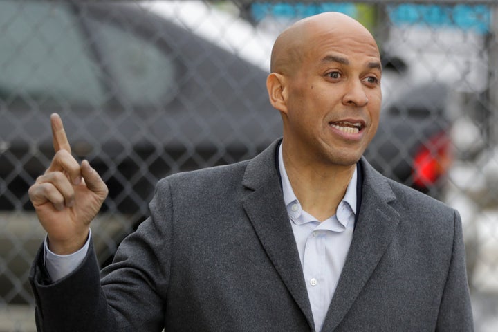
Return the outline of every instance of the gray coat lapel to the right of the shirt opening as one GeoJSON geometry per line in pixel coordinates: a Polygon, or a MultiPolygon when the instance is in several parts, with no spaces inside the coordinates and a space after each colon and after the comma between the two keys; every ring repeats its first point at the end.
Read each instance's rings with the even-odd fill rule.
{"type": "Polygon", "coordinates": [[[322,331],[333,331],[347,314],[391,243],[400,218],[389,205],[396,197],[386,179],[365,159],[360,165],[364,181],[358,225],[322,331]]]}

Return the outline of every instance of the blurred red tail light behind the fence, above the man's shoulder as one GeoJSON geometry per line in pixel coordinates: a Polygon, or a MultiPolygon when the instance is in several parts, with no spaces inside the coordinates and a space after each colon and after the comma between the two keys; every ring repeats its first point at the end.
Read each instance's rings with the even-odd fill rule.
{"type": "Polygon", "coordinates": [[[445,132],[432,136],[414,158],[413,179],[418,187],[429,187],[448,173],[453,160],[450,138],[445,132]]]}

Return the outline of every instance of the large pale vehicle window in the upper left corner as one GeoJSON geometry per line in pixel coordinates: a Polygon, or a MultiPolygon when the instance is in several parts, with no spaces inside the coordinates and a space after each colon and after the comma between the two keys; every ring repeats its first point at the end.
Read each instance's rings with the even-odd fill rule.
{"type": "Polygon", "coordinates": [[[0,98],[5,102],[104,102],[98,68],[67,6],[2,1],[0,98]]]}

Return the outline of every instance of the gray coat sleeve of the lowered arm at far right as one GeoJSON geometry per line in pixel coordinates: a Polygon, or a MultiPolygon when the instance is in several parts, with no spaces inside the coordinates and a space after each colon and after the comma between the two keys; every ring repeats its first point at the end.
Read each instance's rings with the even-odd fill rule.
{"type": "Polygon", "coordinates": [[[465,269],[465,247],[460,215],[454,212],[453,248],[436,331],[474,331],[465,269]]]}

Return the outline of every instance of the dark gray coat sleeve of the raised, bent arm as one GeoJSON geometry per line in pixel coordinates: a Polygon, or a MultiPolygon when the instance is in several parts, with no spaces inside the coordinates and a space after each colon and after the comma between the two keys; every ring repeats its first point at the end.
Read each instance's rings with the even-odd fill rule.
{"type": "Polygon", "coordinates": [[[44,268],[42,246],[30,271],[38,331],[163,330],[169,280],[170,197],[167,181],[163,181],[150,204],[152,216],[122,241],[113,264],[102,273],[91,245],[73,273],[51,282],[44,268]]]}

